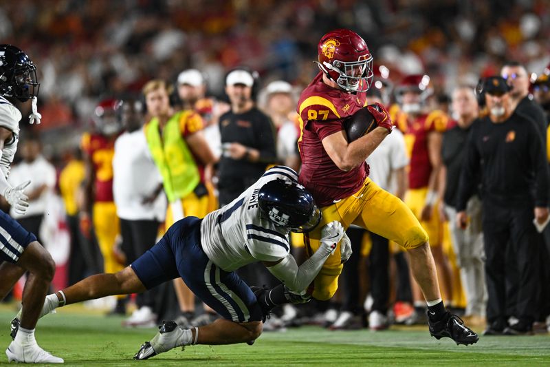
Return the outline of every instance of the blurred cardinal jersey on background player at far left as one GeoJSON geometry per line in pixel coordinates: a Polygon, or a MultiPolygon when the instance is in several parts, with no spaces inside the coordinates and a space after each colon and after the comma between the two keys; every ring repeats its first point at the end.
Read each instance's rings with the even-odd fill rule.
{"type": "Polygon", "coordinates": [[[115,139],[100,134],[85,133],[82,136],[82,149],[91,157],[96,180],[94,182],[94,202],[113,201],[113,156],[115,139]]]}

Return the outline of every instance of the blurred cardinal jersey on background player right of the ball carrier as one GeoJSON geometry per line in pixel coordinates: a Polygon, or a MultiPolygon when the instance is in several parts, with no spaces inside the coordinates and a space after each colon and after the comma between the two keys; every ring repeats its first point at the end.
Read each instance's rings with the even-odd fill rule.
{"type": "Polygon", "coordinates": [[[433,111],[423,114],[412,123],[408,123],[405,132],[405,143],[410,158],[408,171],[408,186],[410,189],[427,187],[432,173],[432,165],[428,152],[428,134],[444,132],[448,117],[443,111],[433,111]]]}

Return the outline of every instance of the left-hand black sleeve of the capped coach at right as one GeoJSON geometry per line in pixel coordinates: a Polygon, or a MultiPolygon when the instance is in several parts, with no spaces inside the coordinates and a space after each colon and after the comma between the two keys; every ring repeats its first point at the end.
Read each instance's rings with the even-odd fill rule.
{"type": "MultiPolygon", "coordinates": [[[[475,124],[476,122],[474,122],[475,124]]],[[[480,156],[475,144],[475,126],[470,129],[466,143],[466,156],[461,169],[461,175],[459,179],[459,192],[456,198],[456,211],[463,211],[466,209],[467,201],[470,200],[479,177],[479,165],[480,156]]]]}

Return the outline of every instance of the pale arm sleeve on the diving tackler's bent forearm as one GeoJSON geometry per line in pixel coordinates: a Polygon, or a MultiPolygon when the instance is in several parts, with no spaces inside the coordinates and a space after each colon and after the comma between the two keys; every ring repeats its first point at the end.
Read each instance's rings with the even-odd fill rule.
{"type": "Polygon", "coordinates": [[[314,281],[329,254],[316,251],[311,255],[311,258],[307,259],[300,266],[296,264],[294,257],[289,254],[278,264],[267,266],[267,270],[278,280],[281,280],[291,291],[300,293],[305,291],[307,286],[314,281]]]}

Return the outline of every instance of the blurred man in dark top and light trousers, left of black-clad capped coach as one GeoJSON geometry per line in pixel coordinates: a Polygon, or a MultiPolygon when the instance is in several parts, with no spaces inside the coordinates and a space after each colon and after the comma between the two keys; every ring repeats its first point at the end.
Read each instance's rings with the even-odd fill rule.
{"type": "Polygon", "coordinates": [[[481,201],[478,193],[467,202],[469,218],[467,229],[456,227],[456,195],[460,171],[464,164],[464,146],[472,123],[478,116],[478,105],[474,88],[456,87],[452,93],[452,112],[456,126],[443,134],[441,158],[443,170],[439,181],[439,203],[443,220],[449,221],[452,245],[456,262],[460,268],[461,280],[466,293],[465,317],[472,324],[483,324],[485,318],[485,271],[483,264],[483,234],[481,232],[481,201]]]}

